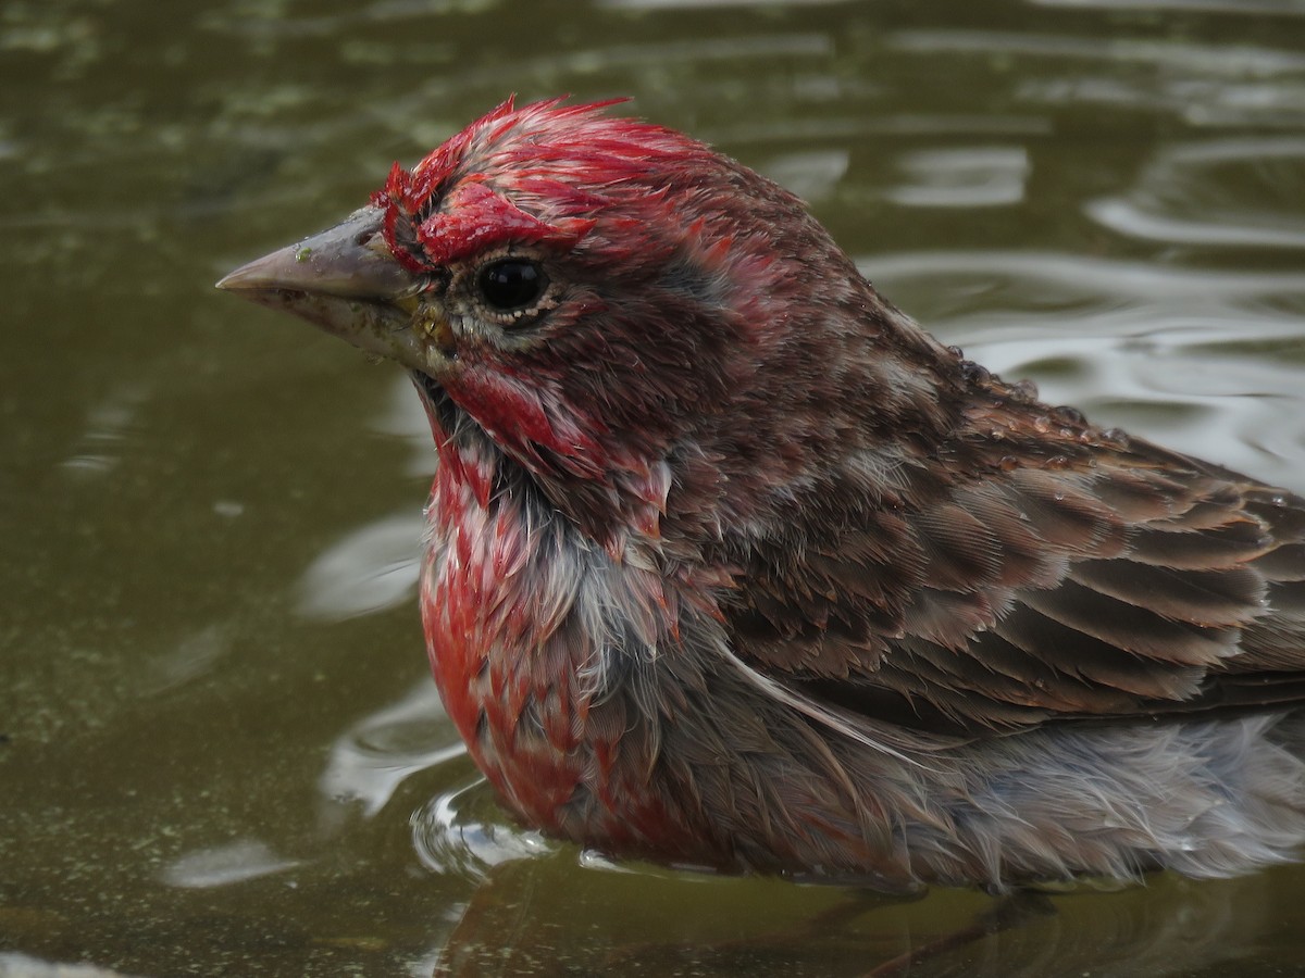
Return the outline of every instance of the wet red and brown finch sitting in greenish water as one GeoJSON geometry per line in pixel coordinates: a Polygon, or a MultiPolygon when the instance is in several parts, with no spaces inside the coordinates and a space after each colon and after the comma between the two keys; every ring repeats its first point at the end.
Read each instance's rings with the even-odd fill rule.
{"type": "Polygon", "coordinates": [[[508,103],[222,282],[411,370],[431,661],[506,805],[890,889],[1291,858],[1305,501],[1001,382],[598,110],[508,103]]]}

